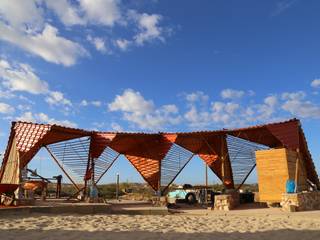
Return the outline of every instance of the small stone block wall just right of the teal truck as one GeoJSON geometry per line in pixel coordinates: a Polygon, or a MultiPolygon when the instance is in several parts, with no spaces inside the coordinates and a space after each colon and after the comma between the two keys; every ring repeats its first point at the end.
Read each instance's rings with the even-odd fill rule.
{"type": "Polygon", "coordinates": [[[239,204],[238,192],[214,196],[214,210],[229,211],[236,208],[239,204]]]}

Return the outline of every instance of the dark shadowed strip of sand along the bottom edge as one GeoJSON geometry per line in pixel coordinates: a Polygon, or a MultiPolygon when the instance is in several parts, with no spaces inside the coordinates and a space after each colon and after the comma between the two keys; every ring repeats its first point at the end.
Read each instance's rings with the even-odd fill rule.
{"type": "MultiPolygon", "coordinates": [[[[63,224],[63,223],[61,223],[63,224]]],[[[128,231],[128,232],[108,232],[108,231],[74,231],[74,230],[23,230],[23,229],[10,229],[0,230],[0,239],[25,239],[25,240],[37,240],[37,239],[96,239],[96,240],[139,240],[139,239],[265,239],[265,240],[317,240],[320,239],[319,231],[309,230],[275,230],[255,233],[177,233],[177,232],[147,232],[147,231],[128,231]]]]}

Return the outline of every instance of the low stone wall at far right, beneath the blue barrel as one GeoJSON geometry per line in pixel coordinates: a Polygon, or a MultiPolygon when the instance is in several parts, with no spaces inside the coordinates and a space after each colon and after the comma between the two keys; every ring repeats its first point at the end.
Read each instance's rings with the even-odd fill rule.
{"type": "Polygon", "coordinates": [[[320,192],[284,193],[280,205],[288,212],[320,210],[320,192]]]}

